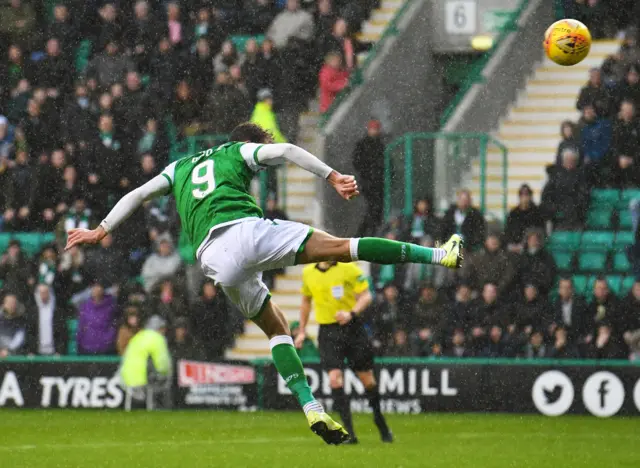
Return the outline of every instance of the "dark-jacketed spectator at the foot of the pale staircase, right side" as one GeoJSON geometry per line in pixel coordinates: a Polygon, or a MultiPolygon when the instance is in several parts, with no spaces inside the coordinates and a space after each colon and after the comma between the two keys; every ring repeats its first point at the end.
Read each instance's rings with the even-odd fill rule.
{"type": "Polygon", "coordinates": [[[522,253],[524,233],[530,228],[544,229],[544,218],[542,210],[533,202],[531,187],[522,184],[518,191],[518,206],[511,210],[504,226],[505,243],[509,252],[522,253]]]}

